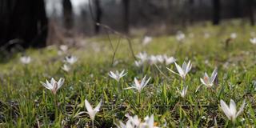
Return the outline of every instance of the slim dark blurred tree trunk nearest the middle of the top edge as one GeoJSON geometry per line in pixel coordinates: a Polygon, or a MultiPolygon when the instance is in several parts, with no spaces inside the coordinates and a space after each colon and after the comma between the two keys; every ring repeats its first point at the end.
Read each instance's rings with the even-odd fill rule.
{"type": "Polygon", "coordinates": [[[123,28],[126,34],[129,33],[129,24],[130,24],[130,0],[122,0],[123,5],[123,28]]]}

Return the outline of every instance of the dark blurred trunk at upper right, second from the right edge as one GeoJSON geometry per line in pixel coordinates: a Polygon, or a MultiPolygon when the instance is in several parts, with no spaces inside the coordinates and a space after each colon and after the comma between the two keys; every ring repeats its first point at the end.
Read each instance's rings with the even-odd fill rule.
{"type": "Polygon", "coordinates": [[[220,0],[212,0],[213,4],[213,24],[218,25],[220,22],[221,2],[220,0]]]}

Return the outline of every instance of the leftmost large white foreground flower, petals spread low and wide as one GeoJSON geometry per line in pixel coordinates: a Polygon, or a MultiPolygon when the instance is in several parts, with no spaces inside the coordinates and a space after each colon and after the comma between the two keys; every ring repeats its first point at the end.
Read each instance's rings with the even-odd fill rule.
{"type": "Polygon", "coordinates": [[[45,82],[41,82],[41,84],[42,84],[42,86],[45,86],[46,89],[51,90],[51,92],[53,94],[56,94],[57,90],[62,87],[64,81],[65,81],[64,78],[60,78],[58,80],[58,82],[55,81],[54,78],[51,78],[50,82],[48,82],[48,80],[46,79],[46,83],[45,82]]]}

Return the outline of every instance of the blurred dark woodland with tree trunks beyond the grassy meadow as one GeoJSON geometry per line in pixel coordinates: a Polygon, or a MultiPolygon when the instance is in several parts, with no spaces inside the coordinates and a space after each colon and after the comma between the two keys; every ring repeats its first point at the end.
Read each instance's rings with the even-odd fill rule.
{"type": "Polygon", "coordinates": [[[0,46],[43,47],[119,32],[177,34],[230,19],[254,26],[255,0],[1,0],[0,46]]]}

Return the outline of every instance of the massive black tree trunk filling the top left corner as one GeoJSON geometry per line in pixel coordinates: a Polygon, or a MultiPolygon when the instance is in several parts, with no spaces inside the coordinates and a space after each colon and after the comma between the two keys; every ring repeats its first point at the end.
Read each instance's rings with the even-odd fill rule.
{"type": "Polygon", "coordinates": [[[46,46],[48,20],[44,0],[1,0],[0,18],[0,46],[46,46]]]}

